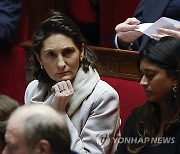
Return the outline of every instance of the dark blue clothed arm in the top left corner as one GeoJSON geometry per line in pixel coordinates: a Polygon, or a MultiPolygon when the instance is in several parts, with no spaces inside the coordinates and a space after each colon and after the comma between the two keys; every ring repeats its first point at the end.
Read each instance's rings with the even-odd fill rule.
{"type": "Polygon", "coordinates": [[[0,1],[0,46],[13,43],[20,19],[20,12],[20,0],[0,1]]]}

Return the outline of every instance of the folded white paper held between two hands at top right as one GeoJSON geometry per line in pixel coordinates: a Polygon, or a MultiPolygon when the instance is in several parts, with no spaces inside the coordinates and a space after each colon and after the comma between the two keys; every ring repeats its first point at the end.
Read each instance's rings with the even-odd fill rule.
{"type": "Polygon", "coordinates": [[[157,28],[166,28],[166,29],[175,30],[174,25],[180,25],[180,22],[167,17],[161,17],[154,23],[139,24],[139,28],[136,30],[148,36],[151,36],[152,34],[158,34],[156,31],[157,28]]]}

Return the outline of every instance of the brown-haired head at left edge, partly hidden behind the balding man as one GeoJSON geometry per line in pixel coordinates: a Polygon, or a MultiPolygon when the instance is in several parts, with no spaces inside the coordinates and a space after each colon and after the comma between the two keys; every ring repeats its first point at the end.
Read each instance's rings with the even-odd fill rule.
{"type": "Polygon", "coordinates": [[[5,95],[0,95],[0,153],[5,146],[4,135],[6,131],[7,120],[11,112],[13,112],[18,106],[19,103],[14,99],[5,95]]]}

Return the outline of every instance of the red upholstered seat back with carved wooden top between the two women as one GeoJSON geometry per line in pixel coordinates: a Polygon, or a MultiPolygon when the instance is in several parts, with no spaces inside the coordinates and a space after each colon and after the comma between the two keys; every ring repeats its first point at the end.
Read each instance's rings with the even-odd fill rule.
{"type": "Polygon", "coordinates": [[[97,70],[119,94],[121,131],[131,111],[145,102],[137,68],[137,51],[90,46],[97,55],[97,70]]]}

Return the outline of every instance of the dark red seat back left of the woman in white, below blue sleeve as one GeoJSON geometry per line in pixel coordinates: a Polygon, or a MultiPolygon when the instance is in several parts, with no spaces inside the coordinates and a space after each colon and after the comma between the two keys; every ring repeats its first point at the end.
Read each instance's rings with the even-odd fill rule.
{"type": "Polygon", "coordinates": [[[23,103],[26,84],[25,52],[14,45],[11,52],[0,55],[0,93],[23,103]]]}

